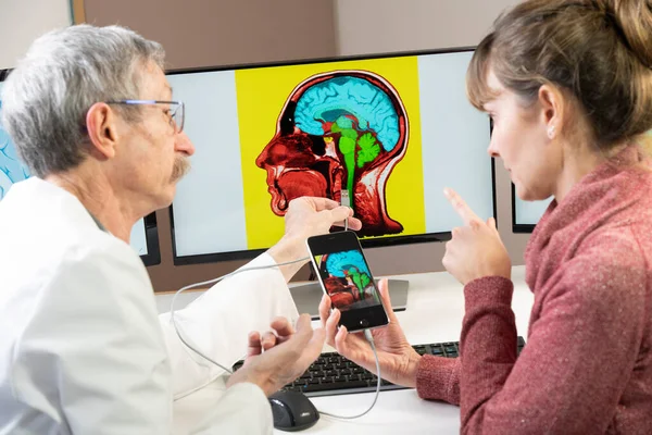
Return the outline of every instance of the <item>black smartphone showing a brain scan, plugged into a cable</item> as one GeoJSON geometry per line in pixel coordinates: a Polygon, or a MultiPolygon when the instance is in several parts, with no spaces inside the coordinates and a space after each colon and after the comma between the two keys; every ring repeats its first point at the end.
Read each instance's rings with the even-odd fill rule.
{"type": "Polygon", "coordinates": [[[353,332],[389,324],[354,232],[309,237],[306,244],[322,289],[330,297],[331,308],[342,314],[340,325],[353,332]]]}

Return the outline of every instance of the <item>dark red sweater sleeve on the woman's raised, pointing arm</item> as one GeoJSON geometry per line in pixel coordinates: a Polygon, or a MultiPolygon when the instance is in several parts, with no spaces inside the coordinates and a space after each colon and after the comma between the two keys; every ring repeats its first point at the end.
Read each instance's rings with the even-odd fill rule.
{"type": "Polygon", "coordinates": [[[588,252],[549,277],[517,360],[511,283],[466,286],[462,433],[605,433],[634,370],[645,306],[644,268],[614,258],[588,252]]]}

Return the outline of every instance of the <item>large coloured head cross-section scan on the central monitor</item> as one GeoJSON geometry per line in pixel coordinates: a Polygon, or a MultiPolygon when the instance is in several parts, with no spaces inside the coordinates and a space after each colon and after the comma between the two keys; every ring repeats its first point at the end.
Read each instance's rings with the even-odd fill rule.
{"type": "Polygon", "coordinates": [[[394,87],[362,70],[315,74],[280,109],[277,129],[255,164],[267,172],[272,211],[283,216],[301,196],[340,202],[362,221],[361,237],[396,235],[386,185],[408,149],[408,114],[394,87]]]}

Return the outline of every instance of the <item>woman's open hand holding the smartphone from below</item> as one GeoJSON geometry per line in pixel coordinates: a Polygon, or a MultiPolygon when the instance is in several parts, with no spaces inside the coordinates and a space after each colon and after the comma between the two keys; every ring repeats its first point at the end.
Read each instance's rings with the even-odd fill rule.
{"type": "MultiPolygon", "coordinates": [[[[372,330],[380,363],[380,377],[398,385],[415,387],[416,368],[421,356],[405,339],[399,320],[391,309],[387,279],[380,281],[378,287],[380,300],[389,316],[389,325],[372,330]]],[[[326,343],[335,347],[343,357],[376,373],[376,359],[364,334],[362,332],[349,334],[344,326],[340,326],[338,331],[340,315],[337,309],[330,312],[330,298],[324,295],[319,303],[319,318],[326,330],[326,343]]]]}

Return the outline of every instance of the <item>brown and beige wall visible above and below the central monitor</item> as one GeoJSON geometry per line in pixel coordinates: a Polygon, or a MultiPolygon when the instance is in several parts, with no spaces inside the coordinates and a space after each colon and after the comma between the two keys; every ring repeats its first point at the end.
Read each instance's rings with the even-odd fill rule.
{"type": "MultiPolygon", "coordinates": [[[[118,23],[167,51],[170,67],[258,63],[476,45],[514,0],[85,0],[86,21],[118,23]]],[[[514,264],[527,236],[511,231],[509,175],[497,162],[499,229],[514,264]]],[[[156,213],[161,264],[149,268],[154,289],[227,273],[243,262],[174,266],[170,216],[156,213]]],[[[220,219],[215,216],[215,219],[220,219]]],[[[443,244],[367,250],[376,274],[440,271],[443,244]],[[397,259],[404,259],[397,261],[397,259]]],[[[305,279],[304,269],[298,278],[305,279]]]]}

